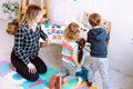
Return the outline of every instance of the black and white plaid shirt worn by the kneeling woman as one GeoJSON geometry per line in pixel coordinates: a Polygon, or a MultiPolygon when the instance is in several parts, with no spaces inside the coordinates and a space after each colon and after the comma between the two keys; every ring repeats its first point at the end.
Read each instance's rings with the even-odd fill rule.
{"type": "Polygon", "coordinates": [[[19,59],[28,65],[30,59],[38,56],[39,52],[39,38],[45,40],[48,36],[41,30],[41,26],[37,27],[35,32],[31,29],[27,29],[24,26],[20,24],[14,34],[14,47],[13,51],[19,59]]]}

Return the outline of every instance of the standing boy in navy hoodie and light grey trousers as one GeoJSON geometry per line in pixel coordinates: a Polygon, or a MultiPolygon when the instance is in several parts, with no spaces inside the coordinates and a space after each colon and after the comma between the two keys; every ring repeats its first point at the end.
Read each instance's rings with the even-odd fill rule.
{"type": "Polygon", "coordinates": [[[91,60],[90,60],[90,71],[89,71],[89,81],[88,86],[92,86],[94,81],[94,73],[99,69],[101,73],[101,78],[103,81],[103,88],[109,89],[109,59],[106,58],[106,40],[109,40],[109,36],[106,31],[100,27],[101,17],[98,13],[92,13],[89,17],[89,22],[92,27],[88,32],[88,42],[91,43],[91,60]]]}

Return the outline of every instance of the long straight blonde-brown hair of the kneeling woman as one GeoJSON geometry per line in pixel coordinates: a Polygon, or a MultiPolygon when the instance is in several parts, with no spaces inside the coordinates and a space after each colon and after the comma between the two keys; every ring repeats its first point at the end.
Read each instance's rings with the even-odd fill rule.
{"type": "Polygon", "coordinates": [[[28,7],[28,10],[23,17],[23,19],[21,20],[21,24],[24,24],[27,28],[30,28],[29,26],[29,21],[33,22],[34,19],[37,18],[37,16],[40,13],[41,8],[35,6],[35,4],[30,4],[28,7]]]}

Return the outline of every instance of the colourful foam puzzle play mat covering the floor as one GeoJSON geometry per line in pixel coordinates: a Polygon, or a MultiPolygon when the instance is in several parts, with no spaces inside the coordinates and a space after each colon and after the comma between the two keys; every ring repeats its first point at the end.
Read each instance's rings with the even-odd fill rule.
{"type": "MultiPolygon", "coordinates": [[[[19,85],[22,89],[49,89],[48,83],[50,78],[58,73],[58,70],[48,67],[48,71],[44,75],[40,75],[38,81],[28,81],[23,79],[19,73],[12,71],[9,67],[8,61],[0,62],[0,76],[9,79],[11,82],[19,85]]],[[[69,82],[65,82],[62,89],[96,89],[95,87],[88,88],[85,82],[82,82],[80,86],[76,85],[76,79],[72,79],[69,82]]]]}

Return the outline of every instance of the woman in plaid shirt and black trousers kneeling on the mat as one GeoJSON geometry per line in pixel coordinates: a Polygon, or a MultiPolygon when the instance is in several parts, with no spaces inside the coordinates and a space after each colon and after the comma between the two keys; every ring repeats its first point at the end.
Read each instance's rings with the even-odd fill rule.
{"type": "Polygon", "coordinates": [[[38,6],[29,6],[23,20],[14,34],[14,46],[11,52],[11,63],[24,79],[35,81],[39,73],[45,73],[47,66],[38,57],[39,38],[49,43],[48,36],[39,24],[42,10],[38,6]]]}

